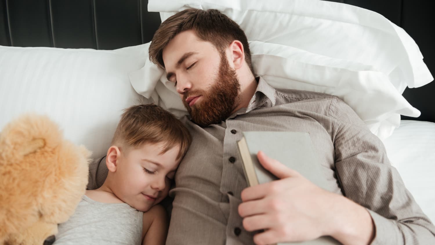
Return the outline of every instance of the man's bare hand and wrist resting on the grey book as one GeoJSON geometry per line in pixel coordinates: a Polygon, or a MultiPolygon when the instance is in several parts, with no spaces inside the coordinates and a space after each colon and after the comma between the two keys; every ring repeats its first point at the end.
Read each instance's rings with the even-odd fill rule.
{"type": "Polygon", "coordinates": [[[261,151],[258,160],[280,180],[249,187],[241,193],[243,203],[238,211],[244,218],[244,228],[265,230],[254,235],[255,244],[300,242],[323,235],[331,235],[344,244],[371,241],[373,224],[365,208],[319,188],[261,151]],[[351,218],[346,217],[349,214],[351,218]]]}

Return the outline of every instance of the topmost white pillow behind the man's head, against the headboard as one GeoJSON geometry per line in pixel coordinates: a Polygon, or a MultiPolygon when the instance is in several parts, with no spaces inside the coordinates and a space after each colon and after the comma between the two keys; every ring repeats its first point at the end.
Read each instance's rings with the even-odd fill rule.
{"type": "Polygon", "coordinates": [[[187,9],[217,9],[240,25],[248,40],[297,47],[313,54],[371,65],[402,93],[433,80],[406,32],[381,14],[321,0],[149,0],[164,21],[187,9]]]}

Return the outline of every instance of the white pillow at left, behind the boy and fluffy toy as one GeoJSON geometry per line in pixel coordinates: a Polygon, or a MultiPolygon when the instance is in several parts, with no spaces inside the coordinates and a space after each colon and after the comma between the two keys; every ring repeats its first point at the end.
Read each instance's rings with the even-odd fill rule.
{"type": "Polygon", "coordinates": [[[147,103],[128,78],[148,59],[144,49],[0,46],[0,130],[22,113],[46,114],[67,139],[103,156],[122,110],[147,103]]]}

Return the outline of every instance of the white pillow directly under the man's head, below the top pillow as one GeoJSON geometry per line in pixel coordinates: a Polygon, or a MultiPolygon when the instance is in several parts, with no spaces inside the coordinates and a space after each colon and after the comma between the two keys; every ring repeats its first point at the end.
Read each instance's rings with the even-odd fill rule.
{"type": "MultiPolygon", "coordinates": [[[[387,138],[398,127],[400,114],[419,115],[419,111],[389,82],[388,76],[371,66],[281,44],[260,41],[249,44],[254,72],[272,87],[338,96],[379,138],[387,138]]],[[[141,70],[132,72],[130,81],[138,93],[176,116],[188,114],[164,70],[151,62],[147,61],[141,70]]]]}

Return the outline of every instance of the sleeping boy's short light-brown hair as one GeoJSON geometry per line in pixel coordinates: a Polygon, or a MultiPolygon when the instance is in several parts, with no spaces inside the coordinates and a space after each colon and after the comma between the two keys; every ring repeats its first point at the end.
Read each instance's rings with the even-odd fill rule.
{"type": "Polygon", "coordinates": [[[180,159],[189,148],[191,135],[180,120],[155,104],[141,104],[124,109],[112,145],[138,148],[145,143],[164,143],[160,154],[179,145],[177,159],[180,159]]]}

